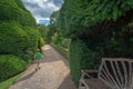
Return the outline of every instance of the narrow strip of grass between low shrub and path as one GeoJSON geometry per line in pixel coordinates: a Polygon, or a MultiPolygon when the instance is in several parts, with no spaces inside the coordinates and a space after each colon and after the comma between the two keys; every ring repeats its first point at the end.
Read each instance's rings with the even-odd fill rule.
{"type": "Polygon", "coordinates": [[[17,75],[17,76],[14,76],[14,77],[12,77],[12,78],[10,78],[10,79],[8,79],[8,80],[6,80],[6,81],[0,82],[0,89],[9,89],[9,87],[10,87],[17,79],[19,79],[23,73],[24,73],[24,71],[21,72],[21,73],[19,73],[19,75],[17,75]]]}

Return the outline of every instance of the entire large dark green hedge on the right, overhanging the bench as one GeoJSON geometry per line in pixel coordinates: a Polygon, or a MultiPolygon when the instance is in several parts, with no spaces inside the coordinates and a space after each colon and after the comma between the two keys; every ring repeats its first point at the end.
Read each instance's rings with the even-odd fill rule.
{"type": "Polygon", "coordinates": [[[64,0],[58,23],[61,34],[72,39],[76,85],[81,69],[96,69],[102,57],[133,58],[133,0],[64,0]]]}

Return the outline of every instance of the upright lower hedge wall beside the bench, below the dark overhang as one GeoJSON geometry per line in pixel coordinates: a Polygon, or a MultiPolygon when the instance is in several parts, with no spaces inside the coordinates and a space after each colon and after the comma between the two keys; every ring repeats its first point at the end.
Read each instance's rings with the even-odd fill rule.
{"type": "Polygon", "coordinates": [[[82,69],[98,69],[100,66],[101,56],[86,47],[81,40],[72,40],[70,44],[70,68],[71,75],[79,85],[82,69]]]}

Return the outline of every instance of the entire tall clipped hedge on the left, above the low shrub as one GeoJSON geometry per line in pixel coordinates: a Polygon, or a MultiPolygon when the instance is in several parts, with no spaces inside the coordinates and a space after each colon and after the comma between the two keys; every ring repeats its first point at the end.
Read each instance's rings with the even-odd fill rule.
{"type": "Polygon", "coordinates": [[[40,33],[21,0],[0,0],[0,55],[31,59],[40,33]]]}

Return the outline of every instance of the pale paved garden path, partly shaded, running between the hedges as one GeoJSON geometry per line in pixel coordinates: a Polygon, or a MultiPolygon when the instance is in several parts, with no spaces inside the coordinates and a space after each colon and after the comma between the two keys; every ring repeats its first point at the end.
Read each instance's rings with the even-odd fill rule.
{"type": "Polygon", "coordinates": [[[35,65],[32,65],[9,89],[76,89],[66,59],[49,44],[43,47],[43,51],[41,69],[34,71],[35,65]]]}

